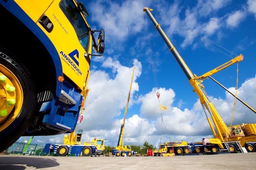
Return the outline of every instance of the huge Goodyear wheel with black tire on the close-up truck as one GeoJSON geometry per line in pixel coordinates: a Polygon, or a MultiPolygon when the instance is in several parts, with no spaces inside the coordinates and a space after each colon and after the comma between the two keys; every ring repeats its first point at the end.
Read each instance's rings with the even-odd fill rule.
{"type": "MultiPolygon", "coordinates": [[[[28,56],[29,57],[29,56],[28,56]]],[[[36,107],[35,88],[26,68],[0,47],[0,152],[21,137],[36,107]],[[7,106],[6,106],[7,105],[7,106]]]]}

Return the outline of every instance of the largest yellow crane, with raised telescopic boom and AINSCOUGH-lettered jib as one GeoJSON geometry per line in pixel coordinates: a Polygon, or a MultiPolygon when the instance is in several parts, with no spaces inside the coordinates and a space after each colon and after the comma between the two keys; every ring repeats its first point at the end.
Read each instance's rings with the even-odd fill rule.
{"type": "MultiPolygon", "coordinates": [[[[143,11],[148,14],[156,30],[159,32],[165,44],[170,49],[170,52],[173,54],[179,66],[184,71],[186,77],[189,80],[190,85],[193,87],[193,92],[196,92],[200,99],[200,103],[203,107],[204,113],[207,117],[207,121],[214,135],[214,139],[203,138],[202,142],[205,145],[205,150],[208,150],[211,152],[219,152],[224,150],[231,151],[231,152],[235,152],[235,151],[244,152],[242,147],[245,147],[248,152],[255,152],[256,124],[242,123],[239,125],[227,126],[225,122],[222,120],[222,118],[220,117],[212,101],[206,94],[206,91],[204,90],[204,86],[202,84],[203,80],[207,77],[210,77],[210,75],[228,67],[233,63],[242,61],[243,55],[240,54],[239,56],[235,57],[231,61],[203,74],[202,76],[198,77],[196,74],[193,75],[189,67],[184,62],[183,58],[181,58],[176,48],[172,45],[169,38],[163,32],[162,28],[160,27],[156,19],[154,19],[153,15],[150,12],[152,11],[152,9],[144,8],[143,11]],[[208,115],[211,116],[217,133],[215,132],[214,127],[211,123],[210,117],[208,115]]],[[[252,109],[252,111],[255,113],[254,109],[252,109]]],[[[169,151],[171,153],[171,150],[169,151]]]]}

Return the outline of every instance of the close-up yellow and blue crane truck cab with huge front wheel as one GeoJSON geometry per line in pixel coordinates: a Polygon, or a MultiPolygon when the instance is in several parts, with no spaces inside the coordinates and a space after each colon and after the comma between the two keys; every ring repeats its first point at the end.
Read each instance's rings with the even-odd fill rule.
{"type": "Polygon", "coordinates": [[[1,0],[0,15],[0,152],[21,136],[73,132],[104,29],[91,29],[76,0],[1,0]]]}

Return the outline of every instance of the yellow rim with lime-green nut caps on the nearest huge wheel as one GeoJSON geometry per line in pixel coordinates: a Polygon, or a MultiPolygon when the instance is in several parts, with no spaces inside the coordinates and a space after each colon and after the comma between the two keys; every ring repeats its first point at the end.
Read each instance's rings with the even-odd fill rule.
{"type": "Polygon", "coordinates": [[[23,103],[23,90],[19,80],[0,64],[0,132],[18,117],[23,103]],[[7,105],[7,106],[6,106],[7,105]],[[13,112],[13,108],[14,112],[13,112]]]}

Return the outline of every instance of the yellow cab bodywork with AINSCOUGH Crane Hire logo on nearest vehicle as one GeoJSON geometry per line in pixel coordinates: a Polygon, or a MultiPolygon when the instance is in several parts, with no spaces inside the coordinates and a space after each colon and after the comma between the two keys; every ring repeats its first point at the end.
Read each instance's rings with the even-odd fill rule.
{"type": "MultiPolygon", "coordinates": [[[[85,90],[90,75],[90,65],[86,61],[84,53],[91,53],[91,35],[89,35],[90,42],[89,47],[87,48],[88,51],[85,51],[85,49],[79,42],[75,29],[60,9],[59,1],[44,0],[43,4],[41,4],[41,1],[36,0],[34,0],[33,3],[28,3],[27,1],[22,0],[16,0],[16,2],[24,9],[24,11],[26,11],[28,16],[37,23],[38,27],[40,27],[44,31],[44,33],[54,44],[59,54],[60,61],[62,63],[62,66],[55,67],[62,68],[63,74],[72,79],[72,81],[78,86],[79,89],[85,90]],[[33,4],[33,6],[30,4],[33,4]],[[35,4],[37,5],[35,6],[35,4]],[[45,8],[47,8],[46,11],[43,10],[45,8]],[[38,22],[42,15],[46,15],[53,24],[53,30],[50,33],[46,31],[43,26],[38,22]],[[69,56],[69,54],[74,51],[75,55],[73,55],[73,57],[77,61],[74,61],[69,56]]],[[[84,23],[87,25],[87,27],[89,27],[85,19],[84,23]]]]}

